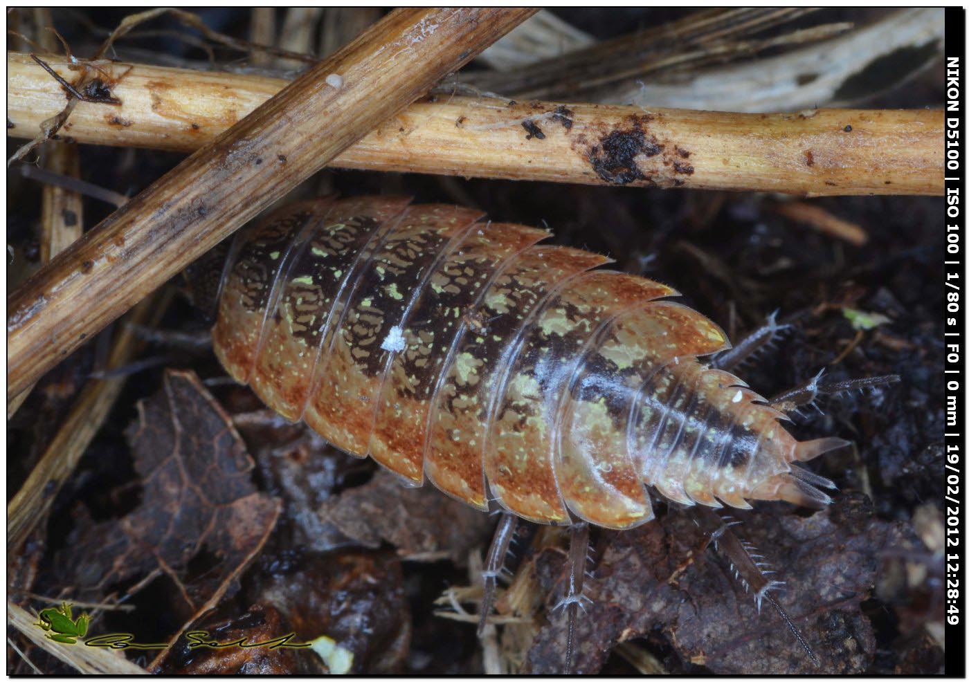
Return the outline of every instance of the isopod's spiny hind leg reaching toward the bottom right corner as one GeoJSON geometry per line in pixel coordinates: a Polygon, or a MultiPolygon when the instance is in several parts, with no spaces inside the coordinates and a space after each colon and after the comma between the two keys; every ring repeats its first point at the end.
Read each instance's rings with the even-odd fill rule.
{"type": "Polygon", "coordinates": [[[800,631],[797,630],[797,626],[791,620],[791,616],[770,595],[771,590],[780,589],[785,583],[780,580],[769,579],[767,575],[774,572],[764,570],[766,568],[764,557],[756,553],[753,545],[749,542],[742,542],[737,538],[734,531],[731,530],[731,526],[737,525],[739,521],[726,517],[721,518],[714,511],[707,508],[697,508],[695,513],[697,524],[709,536],[713,548],[727,558],[731,568],[734,570],[735,577],[743,585],[743,588],[753,593],[754,603],[757,604],[757,612],[760,613],[762,602],[773,606],[777,614],[781,617],[781,620],[788,627],[788,630],[797,639],[797,643],[803,647],[811,663],[820,667],[821,662],[814,655],[814,651],[804,639],[804,635],[801,635],[800,631]]]}

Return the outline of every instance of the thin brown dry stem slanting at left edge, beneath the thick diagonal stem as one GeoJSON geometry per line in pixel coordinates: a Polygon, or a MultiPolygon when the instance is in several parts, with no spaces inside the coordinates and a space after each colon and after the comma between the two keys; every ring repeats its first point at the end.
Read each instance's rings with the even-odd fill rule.
{"type": "MultiPolygon", "coordinates": [[[[170,298],[171,294],[165,293],[142,301],[131,311],[128,322],[157,324],[170,298]]],[[[108,367],[120,367],[131,361],[142,346],[141,336],[130,325],[122,325],[111,344],[108,367]]],[[[57,491],[71,477],[81,455],[108,418],[126,379],[127,376],[91,380],[80,390],[70,414],[58,428],[37,466],[7,504],[8,551],[16,551],[37,523],[47,518],[47,510],[57,491]]]]}

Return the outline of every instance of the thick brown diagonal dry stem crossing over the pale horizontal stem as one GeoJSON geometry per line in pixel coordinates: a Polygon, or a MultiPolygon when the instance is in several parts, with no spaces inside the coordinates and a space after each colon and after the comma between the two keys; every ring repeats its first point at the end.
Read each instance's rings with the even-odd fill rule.
{"type": "Polygon", "coordinates": [[[396,10],[206,144],[9,296],[8,396],[534,12],[396,10]]]}

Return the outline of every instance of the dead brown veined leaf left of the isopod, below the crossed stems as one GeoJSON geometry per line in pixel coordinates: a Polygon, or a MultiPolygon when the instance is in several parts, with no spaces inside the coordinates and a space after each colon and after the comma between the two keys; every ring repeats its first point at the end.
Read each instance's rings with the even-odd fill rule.
{"type": "Polygon", "coordinates": [[[78,520],[57,556],[60,583],[78,598],[165,573],[191,614],[187,627],[226,595],[259,553],[279,502],[251,480],[252,459],[230,418],[193,372],[168,371],[163,388],[138,404],[127,437],[141,504],[109,521],[78,520]],[[201,568],[190,570],[190,562],[201,568]]]}

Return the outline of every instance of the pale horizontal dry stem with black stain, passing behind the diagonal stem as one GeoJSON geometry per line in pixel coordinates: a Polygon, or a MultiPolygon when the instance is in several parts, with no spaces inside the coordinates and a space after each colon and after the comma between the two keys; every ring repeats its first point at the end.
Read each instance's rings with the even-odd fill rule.
{"type": "MultiPolygon", "coordinates": [[[[25,59],[8,56],[8,116],[16,126],[8,135],[30,137],[50,111],[59,110],[63,94],[25,59]]],[[[276,78],[136,65],[115,88],[120,109],[79,103],[66,134],[80,142],[192,151],[284,85],[276,78]]],[[[404,109],[331,166],[605,185],[616,181],[604,174],[618,174],[631,186],[806,196],[942,193],[941,111],[740,114],[565,105],[569,113],[556,117],[555,103],[436,99],[404,109]],[[526,122],[537,125],[545,138],[528,139],[521,125],[526,122]],[[603,140],[617,134],[611,140],[635,143],[638,139],[626,134],[635,134],[637,125],[643,147],[633,159],[635,168],[610,173],[610,165],[621,171],[623,160],[603,158],[603,140]],[[653,143],[663,150],[649,156],[653,143]],[[596,158],[605,163],[597,166],[596,158]]]]}

